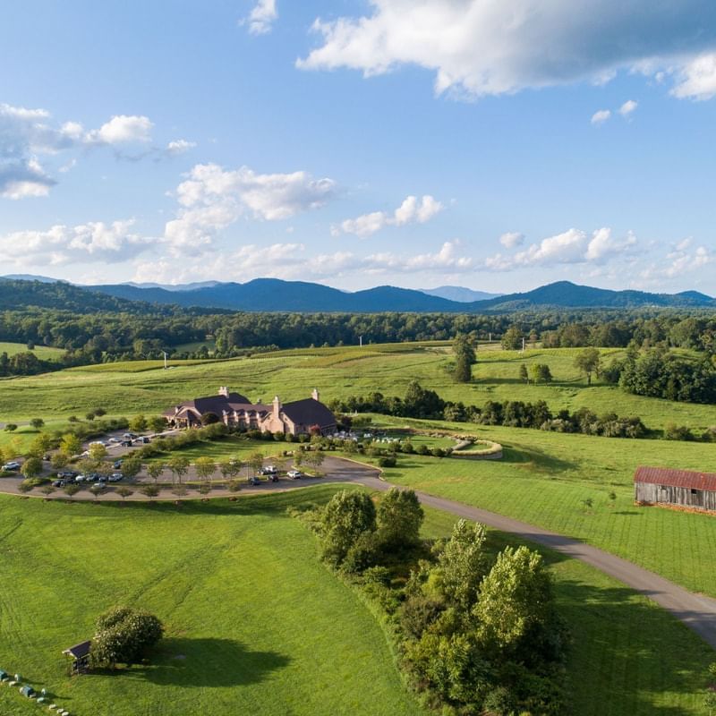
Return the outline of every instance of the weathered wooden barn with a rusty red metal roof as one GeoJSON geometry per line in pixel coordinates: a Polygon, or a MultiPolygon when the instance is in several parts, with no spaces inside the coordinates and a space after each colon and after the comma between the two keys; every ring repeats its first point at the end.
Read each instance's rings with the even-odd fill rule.
{"type": "Polygon", "coordinates": [[[635,500],[643,505],[669,505],[716,512],[716,474],[665,467],[638,467],[635,500]]]}

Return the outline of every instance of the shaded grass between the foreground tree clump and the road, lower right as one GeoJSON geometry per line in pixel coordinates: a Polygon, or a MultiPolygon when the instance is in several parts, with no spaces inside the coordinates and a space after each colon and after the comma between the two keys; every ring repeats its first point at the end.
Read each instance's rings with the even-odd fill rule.
{"type": "MultiPolygon", "coordinates": [[[[428,508],[423,532],[447,535],[453,521],[453,516],[428,508]]],[[[490,531],[492,550],[506,543],[520,542],[490,531]]],[[[537,549],[550,565],[558,609],[572,636],[567,660],[572,713],[705,713],[702,689],[712,649],[652,601],[574,559],[537,549]]]]}

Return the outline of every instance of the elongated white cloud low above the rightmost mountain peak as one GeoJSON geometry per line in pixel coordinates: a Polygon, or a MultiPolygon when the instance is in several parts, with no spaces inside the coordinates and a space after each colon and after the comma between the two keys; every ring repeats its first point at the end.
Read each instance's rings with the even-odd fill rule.
{"type": "Polygon", "coordinates": [[[636,237],[628,232],[623,237],[612,235],[611,229],[601,228],[590,236],[580,229],[571,228],[540,243],[533,243],[524,251],[511,256],[501,253],[484,261],[485,268],[492,271],[509,271],[534,266],[557,266],[559,264],[599,264],[619,254],[632,250],[636,237]]]}

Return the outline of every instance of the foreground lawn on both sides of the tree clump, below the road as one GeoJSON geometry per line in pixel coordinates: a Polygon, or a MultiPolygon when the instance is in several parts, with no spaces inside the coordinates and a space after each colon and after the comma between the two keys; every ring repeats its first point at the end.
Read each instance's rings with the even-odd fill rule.
{"type": "MultiPolygon", "coordinates": [[[[0,668],[47,688],[76,716],[424,713],[369,609],[286,516],[337,489],[181,506],[0,496],[0,668]],[[162,618],[158,652],[147,665],[67,678],[62,650],[91,636],[94,618],[115,603],[162,618]]],[[[428,509],[424,533],[445,535],[453,522],[428,509]]],[[[490,532],[492,550],[506,541],[515,542],[490,532]]],[[[572,711],[703,714],[712,650],[635,592],[544,554],[573,635],[572,711]]],[[[0,687],[0,712],[38,707],[0,687]]]]}

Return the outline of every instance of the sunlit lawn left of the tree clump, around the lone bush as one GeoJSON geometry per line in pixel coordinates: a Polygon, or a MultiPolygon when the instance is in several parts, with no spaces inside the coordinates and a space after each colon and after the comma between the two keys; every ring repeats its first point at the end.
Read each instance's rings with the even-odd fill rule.
{"type": "MultiPolygon", "coordinates": [[[[0,667],[80,715],[420,713],[379,626],[285,515],[296,499],[0,497],[0,667]],[[160,653],[123,675],[66,678],[62,650],[117,602],[164,620],[160,653]]],[[[4,716],[37,711],[0,688],[4,716]]]]}

